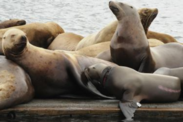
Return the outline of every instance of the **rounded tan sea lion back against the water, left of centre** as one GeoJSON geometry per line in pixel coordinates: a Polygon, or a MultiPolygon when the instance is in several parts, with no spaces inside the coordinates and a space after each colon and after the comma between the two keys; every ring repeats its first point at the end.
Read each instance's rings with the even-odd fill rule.
{"type": "Polygon", "coordinates": [[[48,49],[74,51],[77,44],[82,39],[83,39],[83,36],[80,36],[75,33],[65,32],[65,33],[59,34],[50,44],[48,49]]]}

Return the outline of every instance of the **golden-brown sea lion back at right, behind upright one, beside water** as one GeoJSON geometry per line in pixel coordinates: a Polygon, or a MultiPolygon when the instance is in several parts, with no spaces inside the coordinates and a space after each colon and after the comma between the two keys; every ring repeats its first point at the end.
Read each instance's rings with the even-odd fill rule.
{"type": "Polygon", "coordinates": [[[172,37],[168,34],[157,33],[157,32],[153,32],[153,31],[148,31],[147,38],[148,39],[158,39],[158,40],[162,41],[163,43],[177,42],[177,40],[174,37],[172,37]]]}

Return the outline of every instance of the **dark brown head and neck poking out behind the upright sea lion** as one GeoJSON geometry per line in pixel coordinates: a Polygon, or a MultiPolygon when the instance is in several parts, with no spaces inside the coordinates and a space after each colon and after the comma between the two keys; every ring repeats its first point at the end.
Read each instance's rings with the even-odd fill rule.
{"type": "Polygon", "coordinates": [[[144,30],[147,34],[149,26],[158,15],[158,9],[142,8],[142,9],[139,9],[138,12],[141,18],[141,23],[143,24],[144,30]]]}

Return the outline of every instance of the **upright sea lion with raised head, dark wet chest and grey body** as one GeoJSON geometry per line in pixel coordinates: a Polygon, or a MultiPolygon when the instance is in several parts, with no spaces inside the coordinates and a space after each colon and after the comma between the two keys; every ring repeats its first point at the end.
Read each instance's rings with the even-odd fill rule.
{"type": "Polygon", "coordinates": [[[120,2],[110,2],[109,7],[118,19],[118,27],[110,44],[114,63],[140,72],[154,72],[160,67],[183,66],[181,44],[167,43],[150,48],[134,7],[120,2]]]}

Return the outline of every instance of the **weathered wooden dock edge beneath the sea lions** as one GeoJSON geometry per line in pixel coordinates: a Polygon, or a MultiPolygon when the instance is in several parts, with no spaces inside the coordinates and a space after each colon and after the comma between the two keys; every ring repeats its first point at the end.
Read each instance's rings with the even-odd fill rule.
{"type": "MultiPolygon", "coordinates": [[[[183,122],[183,102],[142,104],[142,107],[135,113],[135,120],[162,118],[169,120],[167,122],[171,120],[183,122]]],[[[123,115],[118,108],[117,100],[35,99],[29,103],[0,111],[0,122],[5,120],[113,122],[121,119],[123,115]]]]}

